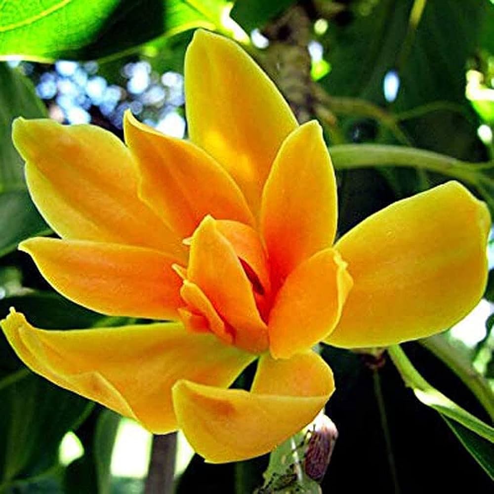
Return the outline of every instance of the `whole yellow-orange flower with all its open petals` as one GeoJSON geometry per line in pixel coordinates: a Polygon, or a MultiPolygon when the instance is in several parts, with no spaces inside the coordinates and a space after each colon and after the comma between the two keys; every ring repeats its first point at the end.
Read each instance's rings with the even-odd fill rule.
{"type": "Polygon", "coordinates": [[[205,31],[185,84],[190,142],[129,113],[127,147],[91,125],[13,130],[62,237],[19,247],[48,282],[104,314],[178,322],[47,331],[12,310],[2,329],[33,371],[232,461],[272,450],[324,406],[334,384],[318,341],[385,346],[467,314],[486,282],[490,217],[449,182],[331,247],[336,184],[319,124],[299,126],[252,60],[205,31]],[[250,392],[228,389],[255,359],[250,392]]]}

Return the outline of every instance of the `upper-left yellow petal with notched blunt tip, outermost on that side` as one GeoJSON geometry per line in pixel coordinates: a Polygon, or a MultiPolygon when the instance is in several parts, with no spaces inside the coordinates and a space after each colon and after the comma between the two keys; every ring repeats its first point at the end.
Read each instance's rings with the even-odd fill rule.
{"type": "Polygon", "coordinates": [[[137,170],[124,144],[94,125],[17,119],[14,144],[29,191],[61,237],[152,247],[184,258],[178,236],[137,197],[137,170]]]}

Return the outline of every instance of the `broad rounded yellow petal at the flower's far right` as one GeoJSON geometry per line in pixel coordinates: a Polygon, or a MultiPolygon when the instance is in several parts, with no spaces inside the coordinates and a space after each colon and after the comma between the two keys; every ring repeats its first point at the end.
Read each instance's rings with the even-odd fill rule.
{"type": "Polygon", "coordinates": [[[457,182],[373,214],[336,244],[354,280],[327,342],[386,346],[447,329],[487,279],[487,206],[457,182]]]}

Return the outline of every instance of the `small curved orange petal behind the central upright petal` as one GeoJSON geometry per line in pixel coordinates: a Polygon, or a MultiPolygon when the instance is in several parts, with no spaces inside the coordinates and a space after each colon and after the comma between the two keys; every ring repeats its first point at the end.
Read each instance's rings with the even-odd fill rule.
{"type": "Polygon", "coordinates": [[[254,289],[268,293],[271,289],[271,282],[266,253],[259,234],[253,228],[238,221],[218,220],[216,226],[221,235],[232,244],[237,256],[254,272],[257,280],[250,280],[254,289]]]}

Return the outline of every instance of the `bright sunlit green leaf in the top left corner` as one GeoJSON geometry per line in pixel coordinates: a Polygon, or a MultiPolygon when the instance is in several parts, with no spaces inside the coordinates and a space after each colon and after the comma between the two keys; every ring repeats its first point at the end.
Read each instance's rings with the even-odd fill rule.
{"type": "Polygon", "coordinates": [[[108,57],[159,36],[215,29],[224,0],[6,0],[0,57],[89,60],[108,57]]]}

